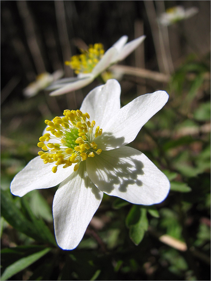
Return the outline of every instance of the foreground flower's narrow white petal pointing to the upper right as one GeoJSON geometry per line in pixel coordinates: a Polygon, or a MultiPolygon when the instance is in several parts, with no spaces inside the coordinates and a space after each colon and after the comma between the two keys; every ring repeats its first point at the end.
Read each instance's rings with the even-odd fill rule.
{"type": "Polygon", "coordinates": [[[96,139],[98,147],[110,150],[133,141],[142,126],[168,101],[165,91],[138,96],[123,106],[107,122],[103,135],[96,139]]]}

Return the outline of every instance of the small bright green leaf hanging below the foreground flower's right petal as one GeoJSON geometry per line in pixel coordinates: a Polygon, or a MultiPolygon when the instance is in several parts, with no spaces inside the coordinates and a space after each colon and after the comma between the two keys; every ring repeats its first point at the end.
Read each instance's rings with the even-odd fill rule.
{"type": "Polygon", "coordinates": [[[148,229],[147,209],[133,205],[126,217],[126,225],[129,228],[130,239],[135,245],[138,245],[148,229]]]}

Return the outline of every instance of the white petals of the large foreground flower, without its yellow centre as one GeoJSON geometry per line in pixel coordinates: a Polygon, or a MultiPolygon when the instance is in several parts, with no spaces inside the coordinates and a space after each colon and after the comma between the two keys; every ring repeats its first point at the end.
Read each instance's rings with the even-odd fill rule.
{"type": "Polygon", "coordinates": [[[94,138],[101,154],[81,161],[77,171],[73,165],[65,169],[58,165],[55,173],[55,163],[44,164],[38,156],[11,183],[11,192],[18,196],[61,183],[53,200],[53,218],[56,240],[62,249],[77,247],[103,192],[143,205],[160,203],[168,195],[167,177],[142,152],[125,146],[165,105],[168,94],[156,91],[138,96],[120,108],[120,92],[118,81],[108,80],[89,92],[80,108],[103,129],[102,135],[94,138]]]}

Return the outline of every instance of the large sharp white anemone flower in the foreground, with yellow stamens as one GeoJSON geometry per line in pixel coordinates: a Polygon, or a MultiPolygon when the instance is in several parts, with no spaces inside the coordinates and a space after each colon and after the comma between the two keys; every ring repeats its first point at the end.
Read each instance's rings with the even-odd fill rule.
{"type": "Polygon", "coordinates": [[[118,81],[108,80],[89,92],[80,110],[46,120],[38,143],[44,151],[11,183],[11,192],[18,196],[60,184],[53,219],[62,249],[77,247],[103,193],[142,205],[160,203],[168,195],[167,177],[142,152],[126,146],[165,105],[168,94],[138,96],[120,108],[120,92],[118,81]]]}

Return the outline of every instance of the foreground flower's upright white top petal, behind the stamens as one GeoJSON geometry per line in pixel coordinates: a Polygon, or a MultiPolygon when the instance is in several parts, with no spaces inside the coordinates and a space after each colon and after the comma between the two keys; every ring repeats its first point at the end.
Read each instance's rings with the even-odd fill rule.
{"type": "Polygon", "coordinates": [[[120,93],[119,82],[110,79],[105,85],[96,87],[88,93],[80,110],[88,112],[90,121],[95,120],[96,126],[103,129],[108,119],[120,109],[120,93]]]}

